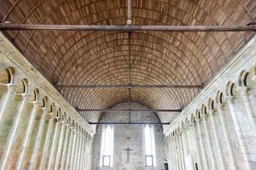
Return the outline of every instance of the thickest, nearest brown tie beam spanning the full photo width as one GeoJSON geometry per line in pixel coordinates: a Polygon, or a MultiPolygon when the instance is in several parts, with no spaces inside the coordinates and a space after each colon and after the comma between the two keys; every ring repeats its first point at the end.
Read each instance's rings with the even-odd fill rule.
{"type": "Polygon", "coordinates": [[[85,26],[0,23],[0,30],[49,31],[256,31],[256,26],[85,26]]]}

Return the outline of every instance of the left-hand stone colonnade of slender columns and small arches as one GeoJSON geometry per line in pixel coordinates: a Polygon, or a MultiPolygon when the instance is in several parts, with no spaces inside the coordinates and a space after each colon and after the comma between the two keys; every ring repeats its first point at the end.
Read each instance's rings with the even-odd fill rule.
{"type": "Polygon", "coordinates": [[[90,170],[94,133],[86,123],[15,67],[0,68],[1,170],[90,170]]]}

